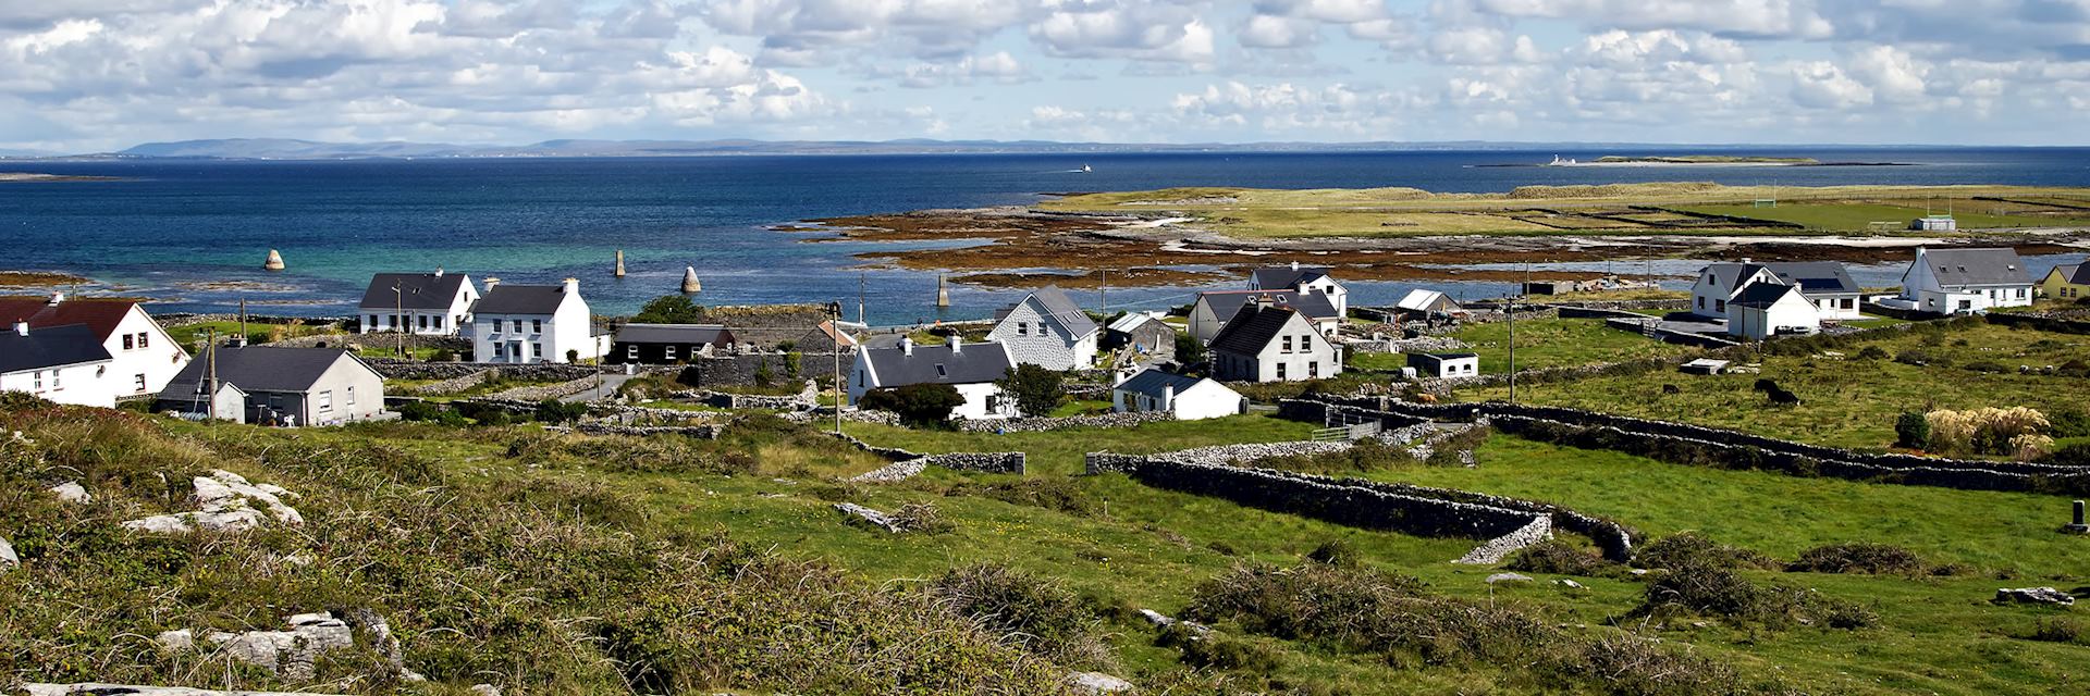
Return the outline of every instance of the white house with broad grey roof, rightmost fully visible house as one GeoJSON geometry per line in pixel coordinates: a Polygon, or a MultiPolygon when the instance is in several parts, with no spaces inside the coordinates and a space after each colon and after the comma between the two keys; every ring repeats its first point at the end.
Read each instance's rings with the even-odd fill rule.
{"type": "Polygon", "coordinates": [[[1904,303],[1933,314],[2031,305],[2031,272],[2015,249],[1917,249],[1902,272],[1904,303]]]}

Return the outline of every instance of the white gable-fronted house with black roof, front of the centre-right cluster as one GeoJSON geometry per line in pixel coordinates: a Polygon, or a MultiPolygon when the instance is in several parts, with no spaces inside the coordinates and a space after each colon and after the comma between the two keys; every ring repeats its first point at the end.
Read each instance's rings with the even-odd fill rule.
{"type": "Polygon", "coordinates": [[[1292,307],[1252,303],[1212,337],[1212,376],[1285,382],[1342,374],[1342,351],[1292,307]]]}

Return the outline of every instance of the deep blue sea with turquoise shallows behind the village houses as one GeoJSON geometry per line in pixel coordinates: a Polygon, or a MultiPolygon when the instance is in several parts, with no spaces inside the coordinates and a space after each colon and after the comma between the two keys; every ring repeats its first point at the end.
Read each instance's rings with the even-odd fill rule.
{"type": "MultiPolygon", "coordinates": [[[[872,324],[976,320],[1022,291],[953,284],[934,307],[934,272],[867,263],[880,249],[951,242],[861,242],[777,232],[811,217],[1026,205],[1055,192],[1166,186],[1499,192],[1528,184],[1720,182],[2090,186],[2090,148],[1791,148],[1710,155],[1814,157],[1896,167],[1528,167],[1616,150],[1396,153],[1095,153],[1095,155],[777,155],[420,161],[0,161],[0,171],[109,176],[94,182],[0,184],[0,270],[94,278],[86,295],[148,297],[155,311],[349,316],[370,274],[433,272],[502,282],[581,280],[596,314],[629,314],[677,293],[683,265],[706,305],[859,297],[872,324]],[[1091,171],[1081,171],[1083,167],[1091,171]],[[268,251],[288,270],[263,272],[268,251]],[[627,276],[614,278],[614,253],[627,276]]],[[[1689,286],[1703,259],[1576,263],[1563,270],[1672,274],[1689,286]],[[1659,268],[1657,268],[1659,265],[1659,268]]],[[[2082,255],[2027,259],[2036,274],[2082,255]]],[[[1545,265],[1538,268],[1549,270],[1545,265]]],[[[1900,268],[1854,268],[1894,284],[1900,268]]],[[[1164,309],[1214,286],[1076,293],[1097,309],[1164,309]]],[[[1356,282],[1352,303],[1392,303],[1415,282],[1356,282]]],[[[1427,282],[1455,297],[1499,297],[1503,282],[1427,282]]]]}

